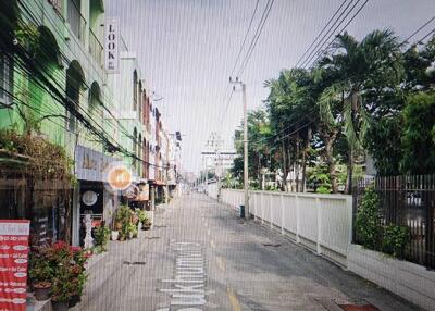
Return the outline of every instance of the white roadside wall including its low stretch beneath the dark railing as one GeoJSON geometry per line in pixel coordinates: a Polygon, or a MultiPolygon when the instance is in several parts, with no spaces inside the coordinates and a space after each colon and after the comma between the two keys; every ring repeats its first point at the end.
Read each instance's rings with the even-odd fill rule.
{"type": "MultiPolygon", "coordinates": [[[[237,209],[241,190],[221,190],[222,202],[237,209]]],[[[351,244],[351,196],[250,191],[250,212],[351,272],[426,309],[435,310],[435,272],[351,244]]]]}

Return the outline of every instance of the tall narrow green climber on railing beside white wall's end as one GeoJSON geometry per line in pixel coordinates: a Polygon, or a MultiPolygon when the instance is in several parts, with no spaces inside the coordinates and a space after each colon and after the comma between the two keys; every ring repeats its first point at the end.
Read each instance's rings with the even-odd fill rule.
{"type": "Polygon", "coordinates": [[[365,188],[361,198],[355,227],[357,236],[364,247],[378,249],[382,238],[380,198],[373,185],[365,188]]]}

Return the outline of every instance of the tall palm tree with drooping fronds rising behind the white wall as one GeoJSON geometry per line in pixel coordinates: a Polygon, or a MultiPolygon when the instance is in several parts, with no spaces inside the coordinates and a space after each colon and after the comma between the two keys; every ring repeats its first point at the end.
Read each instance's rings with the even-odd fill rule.
{"type": "Polygon", "coordinates": [[[335,82],[321,96],[321,117],[331,123],[327,103],[341,98],[344,134],[348,144],[346,191],[352,187],[356,156],[363,151],[362,141],[369,116],[376,113],[376,95],[395,88],[402,76],[400,46],[391,30],[374,30],[360,42],[347,33],[337,36],[333,49],[320,62],[320,67],[332,71],[335,82]]]}

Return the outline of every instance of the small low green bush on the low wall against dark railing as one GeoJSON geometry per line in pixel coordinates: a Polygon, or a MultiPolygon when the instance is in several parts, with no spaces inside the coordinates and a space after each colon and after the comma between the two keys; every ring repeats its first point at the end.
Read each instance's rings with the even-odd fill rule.
{"type": "Polygon", "coordinates": [[[397,258],[403,258],[405,248],[411,240],[408,226],[388,225],[384,227],[382,251],[397,258]]]}

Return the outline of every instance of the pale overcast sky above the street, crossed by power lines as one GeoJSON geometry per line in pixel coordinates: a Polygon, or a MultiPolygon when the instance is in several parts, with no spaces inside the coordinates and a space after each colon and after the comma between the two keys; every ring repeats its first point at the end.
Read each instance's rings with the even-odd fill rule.
{"type": "MultiPolygon", "coordinates": [[[[211,132],[220,132],[225,144],[233,145],[234,130],[243,116],[241,95],[235,92],[227,105],[229,91],[225,94],[225,90],[228,90],[228,76],[256,2],[105,1],[107,16],[120,17],[122,36],[128,49],[137,52],[147,84],[164,98],[156,105],[163,111],[166,127],[186,135],[182,145],[183,167],[186,170],[197,172],[200,169],[200,152],[211,132]]],[[[259,0],[246,48],[266,2],[259,0]]],[[[268,96],[264,80],[277,77],[282,69],[296,64],[341,2],[274,1],[263,33],[241,75],[247,85],[248,109],[262,105],[268,96]]],[[[360,1],[356,8],[363,2],[360,1]]],[[[370,0],[347,30],[361,38],[373,29],[390,28],[405,39],[432,16],[435,16],[434,0],[370,0]]],[[[434,27],[435,21],[410,41],[420,39],[434,27]]],[[[245,51],[241,57],[245,57],[245,51]]]]}

